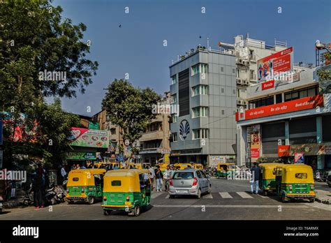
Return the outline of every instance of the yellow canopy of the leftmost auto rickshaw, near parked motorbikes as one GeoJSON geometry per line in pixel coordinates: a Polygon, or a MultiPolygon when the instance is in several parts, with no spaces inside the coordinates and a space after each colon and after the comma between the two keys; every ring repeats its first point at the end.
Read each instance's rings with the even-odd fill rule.
{"type": "Polygon", "coordinates": [[[94,175],[104,175],[105,172],[104,169],[71,170],[67,186],[94,186],[94,175]]]}

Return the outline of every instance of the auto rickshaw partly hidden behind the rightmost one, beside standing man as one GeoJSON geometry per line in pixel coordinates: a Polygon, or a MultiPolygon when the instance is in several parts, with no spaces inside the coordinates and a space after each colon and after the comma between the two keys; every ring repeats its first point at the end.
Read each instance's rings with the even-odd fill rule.
{"type": "Polygon", "coordinates": [[[261,175],[258,180],[258,186],[263,191],[263,194],[267,196],[267,193],[271,193],[276,190],[276,175],[275,170],[277,166],[282,166],[282,163],[260,163],[261,175]]]}

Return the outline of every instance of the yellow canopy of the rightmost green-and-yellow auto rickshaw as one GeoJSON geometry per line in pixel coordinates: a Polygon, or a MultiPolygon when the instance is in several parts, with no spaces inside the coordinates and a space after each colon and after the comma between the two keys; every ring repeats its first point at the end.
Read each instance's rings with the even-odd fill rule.
{"type": "Polygon", "coordinates": [[[314,183],[313,168],[304,164],[290,164],[277,166],[281,175],[281,183],[314,183]]]}

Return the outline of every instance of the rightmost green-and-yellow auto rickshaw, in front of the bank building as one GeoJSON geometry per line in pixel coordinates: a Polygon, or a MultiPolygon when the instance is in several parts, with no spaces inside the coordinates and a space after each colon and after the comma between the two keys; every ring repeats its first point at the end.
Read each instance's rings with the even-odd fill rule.
{"type": "Polygon", "coordinates": [[[279,165],[275,170],[276,191],[283,202],[295,199],[309,199],[314,202],[315,182],[313,169],[309,165],[279,165]]]}

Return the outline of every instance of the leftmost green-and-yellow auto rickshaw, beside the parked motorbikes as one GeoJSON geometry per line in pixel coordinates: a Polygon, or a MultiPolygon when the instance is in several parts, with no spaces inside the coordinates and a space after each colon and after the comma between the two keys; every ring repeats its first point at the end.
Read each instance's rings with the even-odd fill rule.
{"type": "Polygon", "coordinates": [[[80,200],[93,204],[95,198],[102,198],[103,175],[103,169],[71,170],[66,190],[68,203],[80,200]]]}

